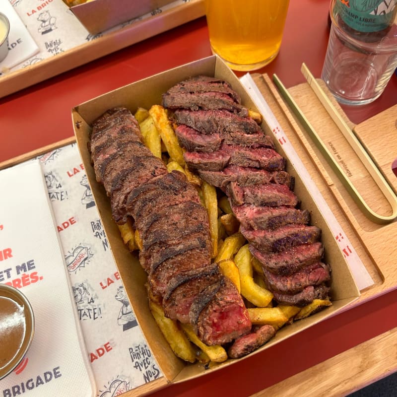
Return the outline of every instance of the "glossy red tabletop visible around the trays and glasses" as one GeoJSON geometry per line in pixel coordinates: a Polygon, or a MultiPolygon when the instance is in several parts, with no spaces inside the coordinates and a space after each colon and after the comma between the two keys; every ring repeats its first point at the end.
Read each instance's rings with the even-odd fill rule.
{"type": "MultiPolygon", "coordinates": [[[[329,36],[328,7],[329,0],[291,1],[280,53],[259,71],[269,76],[276,73],[291,87],[305,81],[300,72],[305,62],[314,76],[320,77],[329,36]]],[[[0,162],[72,136],[73,106],[210,55],[202,17],[0,99],[0,162]]],[[[394,75],[377,101],[344,110],[357,124],[396,103],[394,75]]],[[[397,327],[396,312],[394,290],[232,366],[171,385],[153,396],[249,396],[397,327]]]]}

